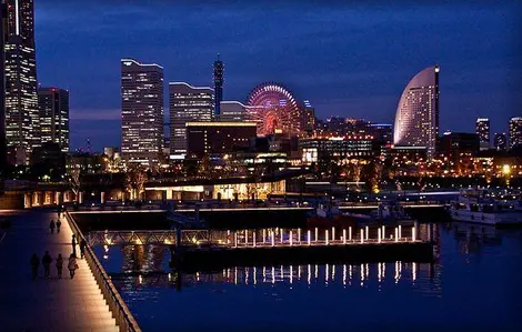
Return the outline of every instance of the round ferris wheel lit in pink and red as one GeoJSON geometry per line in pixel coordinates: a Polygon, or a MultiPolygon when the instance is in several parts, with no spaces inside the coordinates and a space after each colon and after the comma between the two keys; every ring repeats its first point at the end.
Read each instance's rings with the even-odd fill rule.
{"type": "Polygon", "coordinates": [[[247,100],[249,120],[258,123],[258,135],[300,134],[301,109],[292,93],[281,84],[255,87],[247,100]]]}

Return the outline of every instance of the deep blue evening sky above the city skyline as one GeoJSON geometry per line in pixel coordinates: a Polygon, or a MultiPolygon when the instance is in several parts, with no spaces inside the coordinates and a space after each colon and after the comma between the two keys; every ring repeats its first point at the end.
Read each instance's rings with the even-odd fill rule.
{"type": "Polygon", "coordinates": [[[522,115],[522,7],[485,2],[36,0],[38,79],[70,90],[74,148],[119,144],[121,58],[209,85],[218,52],[227,100],[278,81],[320,118],[389,123],[408,81],[439,63],[441,130],[489,117],[505,131],[522,115]]]}

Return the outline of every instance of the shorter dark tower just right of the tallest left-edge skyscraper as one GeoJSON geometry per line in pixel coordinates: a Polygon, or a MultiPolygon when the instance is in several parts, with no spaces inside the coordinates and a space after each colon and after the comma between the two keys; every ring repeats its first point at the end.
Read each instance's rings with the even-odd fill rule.
{"type": "Polygon", "coordinates": [[[69,91],[58,88],[38,89],[40,110],[40,135],[42,144],[58,143],[60,150],[69,151],[69,91]]]}

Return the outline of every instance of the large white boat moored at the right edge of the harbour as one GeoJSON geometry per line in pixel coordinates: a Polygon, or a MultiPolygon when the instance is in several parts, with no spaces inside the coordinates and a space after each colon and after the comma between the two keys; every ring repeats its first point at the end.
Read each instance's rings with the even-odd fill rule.
{"type": "Polygon", "coordinates": [[[450,203],[449,210],[455,221],[494,227],[522,225],[522,209],[519,202],[486,198],[483,192],[462,192],[458,201],[450,203]]]}

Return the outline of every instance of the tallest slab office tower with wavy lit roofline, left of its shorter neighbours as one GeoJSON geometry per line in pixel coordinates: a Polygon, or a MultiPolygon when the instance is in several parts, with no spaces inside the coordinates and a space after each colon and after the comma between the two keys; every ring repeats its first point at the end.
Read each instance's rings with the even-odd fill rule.
{"type": "Polygon", "coordinates": [[[163,67],[121,60],[121,155],[157,162],[163,148],[163,67]]]}

